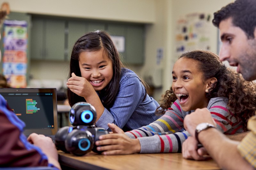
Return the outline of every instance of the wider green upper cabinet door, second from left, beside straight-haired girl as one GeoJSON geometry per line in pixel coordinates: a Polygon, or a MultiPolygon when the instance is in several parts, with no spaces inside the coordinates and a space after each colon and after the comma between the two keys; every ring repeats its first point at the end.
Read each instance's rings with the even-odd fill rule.
{"type": "Polygon", "coordinates": [[[45,59],[65,60],[65,20],[46,19],[45,59]]]}

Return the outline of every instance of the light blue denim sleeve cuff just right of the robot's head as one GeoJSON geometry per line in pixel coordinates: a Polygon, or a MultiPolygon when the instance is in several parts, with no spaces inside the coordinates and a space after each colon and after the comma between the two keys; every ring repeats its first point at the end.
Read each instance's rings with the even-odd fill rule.
{"type": "Polygon", "coordinates": [[[97,127],[107,129],[108,131],[111,131],[108,128],[108,123],[113,123],[114,118],[113,115],[108,111],[108,109],[104,108],[104,112],[100,116],[100,119],[95,123],[97,127]]]}

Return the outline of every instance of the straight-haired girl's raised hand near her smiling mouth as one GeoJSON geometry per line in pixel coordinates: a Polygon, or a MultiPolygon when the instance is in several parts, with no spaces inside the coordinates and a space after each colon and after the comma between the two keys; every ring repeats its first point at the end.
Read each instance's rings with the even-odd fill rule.
{"type": "Polygon", "coordinates": [[[68,79],[67,87],[78,96],[88,97],[89,95],[93,94],[95,90],[93,89],[92,85],[83,77],[78,77],[75,73],[71,74],[72,77],[68,79]]]}

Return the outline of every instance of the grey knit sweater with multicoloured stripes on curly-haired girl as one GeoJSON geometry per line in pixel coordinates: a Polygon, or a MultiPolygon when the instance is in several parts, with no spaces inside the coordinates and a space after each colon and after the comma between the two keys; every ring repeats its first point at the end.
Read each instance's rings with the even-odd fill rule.
{"type": "MultiPolygon", "coordinates": [[[[224,134],[243,132],[242,122],[236,121],[228,113],[227,98],[216,97],[209,101],[207,108],[219,129],[224,134]]],[[[181,152],[182,143],[189,133],[184,131],[183,120],[194,110],[185,112],[181,109],[179,100],[176,100],[165,114],[153,123],[139,129],[125,132],[130,138],[140,141],[140,153],[181,152]]]]}

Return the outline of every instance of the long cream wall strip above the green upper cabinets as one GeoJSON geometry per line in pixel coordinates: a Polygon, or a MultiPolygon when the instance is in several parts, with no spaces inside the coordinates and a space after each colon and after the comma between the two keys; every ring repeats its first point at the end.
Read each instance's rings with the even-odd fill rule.
{"type": "Polygon", "coordinates": [[[33,14],[56,15],[140,23],[155,22],[154,0],[0,0],[11,10],[33,14]]]}

